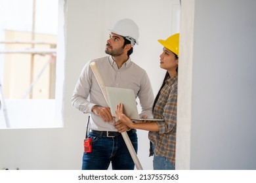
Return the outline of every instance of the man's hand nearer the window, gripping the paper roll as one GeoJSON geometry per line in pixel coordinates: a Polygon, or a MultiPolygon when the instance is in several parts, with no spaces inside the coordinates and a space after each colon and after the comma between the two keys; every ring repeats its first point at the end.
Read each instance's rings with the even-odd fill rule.
{"type": "Polygon", "coordinates": [[[110,107],[102,107],[95,105],[92,108],[92,112],[100,116],[104,122],[112,122],[115,119],[111,114],[110,107]]]}

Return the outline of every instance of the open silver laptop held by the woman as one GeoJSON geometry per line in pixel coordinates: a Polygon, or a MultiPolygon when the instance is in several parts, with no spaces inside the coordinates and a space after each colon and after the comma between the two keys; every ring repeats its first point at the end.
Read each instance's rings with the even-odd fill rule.
{"type": "Polygon", "coordinates": [[[123,114],[131,120],[163,121],[162,119],[140,118],[135,95],[131,89],[106,87],[106,93],[112,116],[116,116],[117,105],[123,103],[123,114]]]}

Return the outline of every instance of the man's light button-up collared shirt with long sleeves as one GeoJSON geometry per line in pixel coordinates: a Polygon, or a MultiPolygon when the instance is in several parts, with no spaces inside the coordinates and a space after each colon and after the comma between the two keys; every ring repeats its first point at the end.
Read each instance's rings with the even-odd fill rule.
{"type": "Polygon", "coordinates": [[[105,56],[91,59],[87,62],[81,71],[72,95],[72,105],[75,108],[84,113],[91,113],[90,129],[117,131],[116,127],[112,125],[113,123],[104,122],[100,116],[91,111],[95,105],[108,106],[89,66],[92,61],[95,61],[105,86],[132,89],[135,93],[135,98],[139,97],[140,106],[142,107],[140,116],[152,116],[154,93],[146,71],[131,61],[131,58],[118,69],[112,56],[105,56]]]}

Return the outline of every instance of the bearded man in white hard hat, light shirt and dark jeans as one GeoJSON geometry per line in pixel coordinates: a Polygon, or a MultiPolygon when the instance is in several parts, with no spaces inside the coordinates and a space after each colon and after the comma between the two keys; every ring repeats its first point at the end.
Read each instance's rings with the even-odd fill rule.
{"type": "Polygon", "coordinates": [[[91,114],[89,137],[92,139],[92,152],[83,154],[82,169],[108,169],[110,162],[114,170],[132,170],[135,167],[125,141],[118,131],[127,131],[137,152],[136,130],[118,121],[115,122],[89,65],[95,62],[105,86],[132,89],[135,97],[140,99],[140,116],[151,116],[154,94],[150,80],[146,71],[130,58],[133,46],[138,44],[138,38],[139,27],[133,20],[119,20],[110,29],[110,38],[106,42],[105,52],[109,56],[92,59],[81,71],[72,96],[72,105],[81,112],[91,114]]]}

